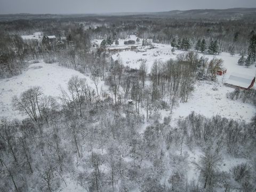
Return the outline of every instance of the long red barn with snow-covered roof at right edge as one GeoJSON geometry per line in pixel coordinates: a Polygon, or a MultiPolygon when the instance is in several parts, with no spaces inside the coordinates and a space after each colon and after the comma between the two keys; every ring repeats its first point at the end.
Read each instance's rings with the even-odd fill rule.
{"type": "Polygon", "coordinates": [[[245,75],[245,74],[238,74],[232,73],[228,80],[225,82],[225,85],[231,87],[237,87],[239,89],[249,90],[251,88],[256,88],[255,85],[255,77],[245,75]]]}

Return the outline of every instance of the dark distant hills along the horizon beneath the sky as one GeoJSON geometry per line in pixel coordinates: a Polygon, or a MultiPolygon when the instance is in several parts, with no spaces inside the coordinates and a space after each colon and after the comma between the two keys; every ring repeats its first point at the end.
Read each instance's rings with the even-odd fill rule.
{"type": "Polygon", "coordinates": [[[198,9],[198,10],[174,10],[166,12],[126,12],[126,13],[94,13],[94,14],[2,14],[0,21],[30,20],[30,19],[58,19],[58,18],[82,18],[82,17],[164,17],[177,19],[256,19],[256,8],[233,8],[233,9],[198,9]]]}

